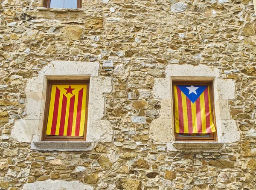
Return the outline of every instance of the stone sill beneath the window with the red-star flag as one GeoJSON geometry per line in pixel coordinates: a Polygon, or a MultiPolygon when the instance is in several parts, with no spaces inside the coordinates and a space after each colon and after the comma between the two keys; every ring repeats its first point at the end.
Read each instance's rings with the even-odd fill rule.
{"type": "Polygon", "coordinates": [[[93,143],[85,141],[39,141],[32,142],[30,148],[47,151],[90,151],[93,150],[93,143]]]}

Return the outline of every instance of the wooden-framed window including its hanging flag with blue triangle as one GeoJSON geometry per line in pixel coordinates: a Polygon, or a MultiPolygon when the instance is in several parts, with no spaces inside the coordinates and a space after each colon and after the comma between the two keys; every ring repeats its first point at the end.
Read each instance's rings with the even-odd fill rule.
{"type": "Polygon", "coordinates": [[[216,141],[211,82],[173,81],[176,141],[216,141]]]}

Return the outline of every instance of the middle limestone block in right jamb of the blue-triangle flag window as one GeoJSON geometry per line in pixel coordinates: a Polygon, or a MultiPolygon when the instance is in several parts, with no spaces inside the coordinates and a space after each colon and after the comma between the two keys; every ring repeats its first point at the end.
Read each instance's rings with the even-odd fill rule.
{"type": "Polygon", "coordinates": [[[231,119],[228,100],[216,100],[214,102],[214,105],[215,105],[216,120],[231,119]]]}

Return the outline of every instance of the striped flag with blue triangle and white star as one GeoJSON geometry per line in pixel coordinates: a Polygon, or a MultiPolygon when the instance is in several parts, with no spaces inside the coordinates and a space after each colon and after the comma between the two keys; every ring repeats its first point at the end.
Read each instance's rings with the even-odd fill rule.
{"type": "Polygon", "coordinates": [[[175,132],[207,134],[215,132],[209,86],[174,87],[175,132]]]}

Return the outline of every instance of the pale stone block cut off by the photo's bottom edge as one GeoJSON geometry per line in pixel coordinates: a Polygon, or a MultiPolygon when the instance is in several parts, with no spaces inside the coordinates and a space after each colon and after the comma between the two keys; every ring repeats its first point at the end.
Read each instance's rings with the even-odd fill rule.
{"type": "Polygon", "coordinates": [[[93,187],[79,181],[50,180],[27,183],[23,186],[24,190],[93,190],[93,187]]]}

